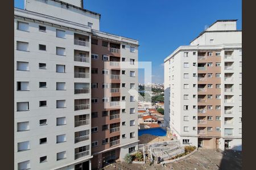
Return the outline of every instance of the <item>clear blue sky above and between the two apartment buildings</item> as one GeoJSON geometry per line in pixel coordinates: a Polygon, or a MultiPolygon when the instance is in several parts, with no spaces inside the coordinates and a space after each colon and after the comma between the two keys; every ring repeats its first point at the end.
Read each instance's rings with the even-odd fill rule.
{"type": "MultiPolygon", "coordinates": [[[[14,0],[23,8],[24,0],[14,0]]],[[[163,61],[218,19],[238,19],[242,0],[84,0],[84,8],[101,14],[100,31],[139,41],[139,61],[152,62],[152,82],[164,82],[163,61]]],[[[139,69],[139,82],[144,71],[139,69]]],[[[147,82],[146,82],[147,83],[147,82]]]]}

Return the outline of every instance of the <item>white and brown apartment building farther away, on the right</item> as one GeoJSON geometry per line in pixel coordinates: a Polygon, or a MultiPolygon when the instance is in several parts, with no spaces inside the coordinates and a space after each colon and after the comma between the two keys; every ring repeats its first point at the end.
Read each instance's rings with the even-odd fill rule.
{"type": "Polygon", "coordinates": [[[242,31],[217,20],[164,59],[164,125],[183,145],[242,150],[242,31]]]}

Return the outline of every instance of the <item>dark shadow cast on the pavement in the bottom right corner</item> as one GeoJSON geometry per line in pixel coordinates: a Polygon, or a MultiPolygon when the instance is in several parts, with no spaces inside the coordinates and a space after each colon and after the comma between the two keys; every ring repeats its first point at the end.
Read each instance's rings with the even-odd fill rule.
{"type": "MultiPolygon", "coordinates": [[[[241,149],[242,145],[233,147],[233,149],[241,149]]],[[[222,159],[220,163],[220,170],[240,170],[242,169],[242,151],[225,150],[222,151],[222,159]]]]}

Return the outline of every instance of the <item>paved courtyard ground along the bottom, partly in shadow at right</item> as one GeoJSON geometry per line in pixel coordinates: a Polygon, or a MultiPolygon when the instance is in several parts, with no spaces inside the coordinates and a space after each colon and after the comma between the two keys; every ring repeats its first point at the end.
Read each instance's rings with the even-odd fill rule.
{"type": "Polygon", "coordinates": [[[105,170],[170,170],[170,169],[242,169],[242,153],[236,151],[215,151],[199,149],[193,155],[180,160],[179,162],[166,164],[163,167],[157,163],[154,165],[114,163],[105,168],[105,170]]]}

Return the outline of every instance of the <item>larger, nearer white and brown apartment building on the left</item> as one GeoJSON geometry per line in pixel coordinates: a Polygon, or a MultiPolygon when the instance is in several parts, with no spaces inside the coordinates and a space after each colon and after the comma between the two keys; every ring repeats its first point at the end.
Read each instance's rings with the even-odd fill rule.
{"type": "Polygon", "coordinates": [[[137,150],[138,41],[101,32],[101,15],[82,6],[14,9],[15,169],[97,169],[137,150]]]}

